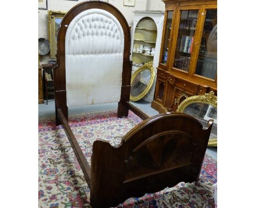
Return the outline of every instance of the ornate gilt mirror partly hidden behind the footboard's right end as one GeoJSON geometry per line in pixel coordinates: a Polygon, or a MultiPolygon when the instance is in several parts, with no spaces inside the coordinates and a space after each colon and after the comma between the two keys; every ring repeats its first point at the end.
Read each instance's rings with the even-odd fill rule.
{"type": "Polygon", "coordinates": [[[213,119],[213,126],[208,146],[217,146],[217,96],[213,91],[205,95],[188,97],[179,104],[176,112],[192,115],[205,126],[213,119]]]}

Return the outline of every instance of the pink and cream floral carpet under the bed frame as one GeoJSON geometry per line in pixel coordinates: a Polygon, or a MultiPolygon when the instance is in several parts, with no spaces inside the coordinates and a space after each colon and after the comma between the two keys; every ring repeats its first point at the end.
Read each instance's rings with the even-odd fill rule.
{"type": "MultiPolygon", "coordinates": [[[[118,145],[121,137],[142,120],[129,111],[118,118],[117,111],[85,113],[69,117],[69,126],[90,164],[92,143],[105,139],[118,145]]],[[[90,189],[62,126],[55,119],[39,120],[39,207],[90,207],[90,189]],[[83,204],[83,198],[86,203],[83,204]]],[[[214,207],[213,183],[217,182],[217,161],[205,155],[201,175],[193,183],[181,182],[164,190],[130,198],[117,207],[214,207]]]]}

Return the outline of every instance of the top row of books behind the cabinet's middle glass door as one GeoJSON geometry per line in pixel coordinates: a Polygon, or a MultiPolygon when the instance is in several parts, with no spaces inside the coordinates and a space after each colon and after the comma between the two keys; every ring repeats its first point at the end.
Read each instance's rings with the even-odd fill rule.
{"type": "Polygon", "coordinates": [[[195,30],[197,22],[197,12],[191,13],[191,11],[182,12],[181,22],[179,23],[179,29],[195,30]]]}

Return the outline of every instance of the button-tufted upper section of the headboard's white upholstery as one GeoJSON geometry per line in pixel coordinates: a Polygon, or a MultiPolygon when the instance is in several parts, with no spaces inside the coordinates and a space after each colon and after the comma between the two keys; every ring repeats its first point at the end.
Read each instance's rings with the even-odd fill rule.
{"type": "Polygon", "coordinates": [[[92,13],[87,10],[86,12],[88,15],[81,15],[80,19],[73,24],[70,23],[69,28],[73,30],[69,34],[66,33],[66,41],[69,37],[69,44],[66,45],[68,54],[97,56],[98,53],[103,53],[104,56],[108,56],[108,53],[122,53],[124,50],[123,30],[120,23],[113,19],[114,16],[98,11],[92,13]],[[103,42],[106,42],[104,47],[102,47],[103,42]]]}

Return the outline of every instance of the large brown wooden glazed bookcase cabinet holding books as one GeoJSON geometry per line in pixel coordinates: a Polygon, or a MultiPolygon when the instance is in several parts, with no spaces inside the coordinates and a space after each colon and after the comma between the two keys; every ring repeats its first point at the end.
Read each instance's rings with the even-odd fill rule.
{"type": "Polygon", "coordinates": [[[176,111],[192,95],[217,95],[217,1],[164,0],[160,59],[152,107],[176,111]]]}

